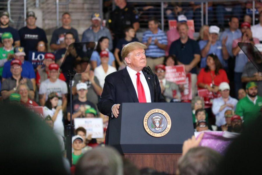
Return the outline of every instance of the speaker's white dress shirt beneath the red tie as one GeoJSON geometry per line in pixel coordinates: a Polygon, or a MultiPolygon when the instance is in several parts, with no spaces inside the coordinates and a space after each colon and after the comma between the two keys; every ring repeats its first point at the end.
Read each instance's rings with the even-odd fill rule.
{"type": "MultiPolygon", "coordinates": [[[[134,88],[136,90],[137,93],[137,71],[131,69],[129,66],[126,67],[128,74],[132,80],[132,83],[134,85],[134,88]]],[[[146,102],[147,103],[151,103],[151,95],[150,95],[150,90],[146,81],[146,77],[144,76],[142,71],[139,71],[140,73],[140,81],[143,85],[144,91],[145,91],[145,95],[146,95],[146,102]]],[[[137,98],[138,98],[138,93],[137,93],[137,98]]]]}

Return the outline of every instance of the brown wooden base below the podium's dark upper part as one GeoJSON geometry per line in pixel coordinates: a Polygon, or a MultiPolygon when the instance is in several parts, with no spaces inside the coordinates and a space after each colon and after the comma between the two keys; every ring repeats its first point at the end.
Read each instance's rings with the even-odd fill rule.
{"type": "Polygon", "coordinates": [[[158,172],[176,174],[179,158],[182,154],[123,154],[138,169],[152,168],[158,172]],[[157,161],[156,161],[157,160],[157,161]]]}

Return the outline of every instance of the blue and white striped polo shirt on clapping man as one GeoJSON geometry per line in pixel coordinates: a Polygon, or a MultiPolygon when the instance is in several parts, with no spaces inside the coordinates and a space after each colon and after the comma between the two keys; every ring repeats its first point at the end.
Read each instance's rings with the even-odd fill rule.
{"type": "Polygon", "coordinates": [[[160,49],[157,45],[155,45],[155,38],[157,38],[158,42],[160,44],[167,45],[167,35],[164,31],[160,30],[158,28],[158,31],[156,34],[153,34],[152,31],[148,30],[145,31],[143,34],[142,43],[147,43],[147,40],[149,37],[152,37],[151,43],[148,45],[148,48],[146,50],[146,56],[147,57],[163,57],[165,56],[165,51],[163,49],[160,49]]]}

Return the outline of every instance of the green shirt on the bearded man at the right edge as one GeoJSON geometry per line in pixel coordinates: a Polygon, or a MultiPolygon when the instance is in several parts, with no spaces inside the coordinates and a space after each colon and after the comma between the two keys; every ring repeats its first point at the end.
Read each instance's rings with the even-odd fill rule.
{"type": "Polygon", "coordinates": [[[262,97],[257,96],[256,104],[253,103],[247,96],[240,99],[236,105],[236,114],[243,117],[244,125],[252,122],[260,115],[262,107],[262,97]]]}

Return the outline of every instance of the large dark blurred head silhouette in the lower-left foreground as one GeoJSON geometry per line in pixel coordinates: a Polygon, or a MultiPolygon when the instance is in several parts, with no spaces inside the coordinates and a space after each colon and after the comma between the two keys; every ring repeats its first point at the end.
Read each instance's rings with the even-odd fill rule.
{"type": "Polygon", "coordinates": [[[0,103],[1,171],[67,174],[59,142],[44,121],[18,104],[0,103]]]}

